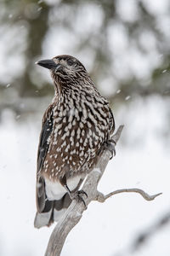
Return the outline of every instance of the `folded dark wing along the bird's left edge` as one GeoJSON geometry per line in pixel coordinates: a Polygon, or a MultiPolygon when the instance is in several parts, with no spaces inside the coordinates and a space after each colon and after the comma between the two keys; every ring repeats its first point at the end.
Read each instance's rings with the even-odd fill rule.
{"type": "Polygon", "coordinates": [[[45,193],[45,182],[43,177],[41,177],[40,172],[45,160],[46,154],[48,152],[48,138],[53,130],[53,111],[52,105],[48,107],[44,113],[42,119],[42,131],[40,134],[39,146],[37,151],[37,212],[48,211],[47,207],[50,208],[46,203],[46,193],[45,193]]]}

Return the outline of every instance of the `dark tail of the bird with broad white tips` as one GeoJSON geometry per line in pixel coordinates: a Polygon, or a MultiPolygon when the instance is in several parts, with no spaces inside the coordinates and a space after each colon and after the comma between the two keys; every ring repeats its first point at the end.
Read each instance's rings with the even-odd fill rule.
{"type": "Polygon", "coordinates": [[[48,204],[48,206],[50,205],[50,207],[45,207],[47,209],[46,211],[36,213],[34,227],[37,229],[43,226],[49,227],[54,221],[59,221],[59,218],[70,206],[71,198],[66,193],[59,201],[47,201],[46,204],[48,204]]]}

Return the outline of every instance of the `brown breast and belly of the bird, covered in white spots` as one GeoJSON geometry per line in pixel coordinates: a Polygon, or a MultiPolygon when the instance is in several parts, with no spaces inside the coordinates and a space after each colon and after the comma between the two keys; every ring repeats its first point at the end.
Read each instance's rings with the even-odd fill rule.
{"type": "Polygon", "coordinates": [[[107,140],[109,120],[104,108],[84,102],[63,102],[54,108],[53,131],[43,172],[50,179],[89,172],[99,148],[107,140]]]}

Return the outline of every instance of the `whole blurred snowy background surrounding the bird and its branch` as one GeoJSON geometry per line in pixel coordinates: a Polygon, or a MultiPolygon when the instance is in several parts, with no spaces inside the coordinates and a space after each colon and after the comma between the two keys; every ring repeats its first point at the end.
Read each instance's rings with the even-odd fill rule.
{"type": "Polygon", "coordinates": [[[33,227],[37,143],[54,95],[35,61],[74,55],[124,124],[99,189],[139,195],[92,202],[62,256],[170,255],[169,0],[1,0],[0,255],[43,255],[54,228],[33,227]]]}

